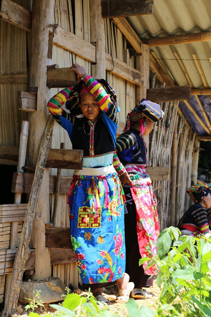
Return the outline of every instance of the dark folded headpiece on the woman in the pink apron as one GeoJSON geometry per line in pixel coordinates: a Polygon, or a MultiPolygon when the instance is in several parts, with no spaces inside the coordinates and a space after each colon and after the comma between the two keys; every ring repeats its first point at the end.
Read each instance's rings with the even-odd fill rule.
{"type": "Polygon", "coordinates": [[[164,112],[161,110],[160,105],[143,98],[140,103],[128,113],[124,131],[129,130],[132,122],[139,121],[142,118],[145,118],[146,120],[149,119],[155,123],[158,120],[161,120],[163,116],[164,112]]]}

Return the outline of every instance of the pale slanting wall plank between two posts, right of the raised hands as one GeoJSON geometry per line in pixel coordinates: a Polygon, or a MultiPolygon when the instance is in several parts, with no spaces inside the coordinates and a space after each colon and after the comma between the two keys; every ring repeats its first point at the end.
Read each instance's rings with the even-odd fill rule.
{"type": "Polygon", "coordinates": [[[110,54],[105,53],[106,70],[111,70],[112,73],[132,82],[138,86],[143,86],[143,74],[135,68],[127,65],[118,58],[112,57],[110,54]]]}

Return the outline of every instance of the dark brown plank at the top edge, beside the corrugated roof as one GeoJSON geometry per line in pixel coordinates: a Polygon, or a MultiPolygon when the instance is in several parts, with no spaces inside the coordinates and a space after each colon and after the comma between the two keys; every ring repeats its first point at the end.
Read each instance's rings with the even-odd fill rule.
{"type": "Polygon", "coordinates": [[[153,0],[101,0],[102,17],[139,16],[153,14],[153,0]]]}

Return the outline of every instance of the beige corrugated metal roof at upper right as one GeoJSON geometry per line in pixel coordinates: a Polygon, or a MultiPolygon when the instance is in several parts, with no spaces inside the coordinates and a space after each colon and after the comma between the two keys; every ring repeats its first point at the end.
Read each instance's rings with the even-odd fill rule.
{"type": "MultiPolygon", "coordinates": [[[[141,39],[211,31],[211,0],[154,0],[153,15],[130,16],[127,20],[141,39]]],[[[209,60],[211,41],[157,46],[151,47],[150,50],[162,60],[178,86],[189,85],[174,55],[176,52],[189,74],[193,87],[203,88],[203,81],[193,58],[195,54],[208,87],[211,87],[211,61],[209,60]]],[[[192,99],[189,102],[191,104],[192,99]]],[[[207,106],[205,110],[209,112],[210,107],[207,106]]],[[[203,115],[200,117],[206,124],[203,115]]],[[[188,120],[188,113],[186,113],[186,119],[188,120]]],[[[193,124],[193,121],[189,123],[193,124]]],[[[195,131],[202,134],[202,130],[197,129],[197,125],[195,125],[195,131]]]]}

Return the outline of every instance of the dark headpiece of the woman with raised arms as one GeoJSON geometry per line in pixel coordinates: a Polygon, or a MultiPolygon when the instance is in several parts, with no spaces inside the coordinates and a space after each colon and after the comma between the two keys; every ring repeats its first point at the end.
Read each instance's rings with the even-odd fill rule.
{"type": "MultiPolygon", "coordinates": [[[[109,95],[111,101],[115,104],[117,112],[120,111],[120,107],[117,102],[117,96],[115,90],[105,81],[104,79],[96,79],[101,86],[105,89],[106,93],[109,95]]],[[[79,98],[82,94],[89,93],[90,91],[86,87],[84,81],[80,81],[80,83],[73,88],[70,98],[66,101],[66,109],[70,110],[72,114],[77,116],[81,114],[81,108],[79,107],[79,98]]]]}

